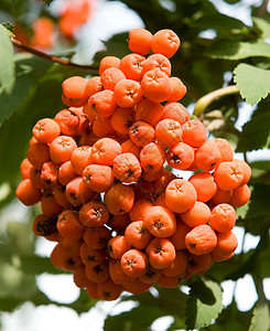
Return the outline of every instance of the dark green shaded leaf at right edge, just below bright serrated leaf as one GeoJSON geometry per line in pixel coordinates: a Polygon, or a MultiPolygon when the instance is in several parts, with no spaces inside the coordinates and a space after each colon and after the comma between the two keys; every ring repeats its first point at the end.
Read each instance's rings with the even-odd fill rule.
{"type": "Polygon", "coordinates": [[[270,147],[270,99],[262,100],[240,135],[236,151],[246,152],[270,147]]]}

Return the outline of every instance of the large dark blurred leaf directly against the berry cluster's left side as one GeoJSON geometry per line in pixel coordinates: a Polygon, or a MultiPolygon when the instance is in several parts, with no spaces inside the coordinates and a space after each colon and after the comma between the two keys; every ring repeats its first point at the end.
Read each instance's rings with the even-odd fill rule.
{"type": "MultiPolygon", "coordinates": [[[[85,73],[85,72],[84,72],[85,73]]],[[[20,162],[25,158],[34,124],[44,117],[54,117],[65,106],[62,103],[62,83],[83,71],[53,66],[39,82],[9,120],[0,128],[0,182],[18,180],[20,162]]]]}

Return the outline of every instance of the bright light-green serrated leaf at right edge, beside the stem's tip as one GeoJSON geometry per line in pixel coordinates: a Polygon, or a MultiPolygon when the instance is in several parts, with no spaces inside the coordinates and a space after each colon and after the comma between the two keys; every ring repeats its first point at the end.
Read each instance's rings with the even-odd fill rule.
{"type": "Polygon", "coordinates": [[[270,71],[240,63],[234,74],[234,81],[248,104],[258,104],[270,93],[270,71]]]}

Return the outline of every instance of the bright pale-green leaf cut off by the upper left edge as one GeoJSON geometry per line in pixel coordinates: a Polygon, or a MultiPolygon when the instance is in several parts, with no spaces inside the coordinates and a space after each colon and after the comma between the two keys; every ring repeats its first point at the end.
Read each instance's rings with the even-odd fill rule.
{"type": "Polygon", "coordinates": [[[13,46],[9,32],[2,24],[0,24],[0,93],[9,94],[15,81],[13,46]]]}

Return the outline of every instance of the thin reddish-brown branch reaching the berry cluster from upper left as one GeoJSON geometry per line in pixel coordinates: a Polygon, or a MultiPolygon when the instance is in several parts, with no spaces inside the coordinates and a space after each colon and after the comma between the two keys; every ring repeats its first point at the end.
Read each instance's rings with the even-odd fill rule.
{"type": "Polygon", "coordinates": [[[26,46],[23,43],[21,43],[19,40],[14,39],[14,38],[11,38],[11,42],[18,49],[20,49],[20,50],[22,50],[24,52],[34,54],[36,56],[40,56],[42,58],[45,58],[47,61],[51,61],[51,62],[54,62],[54,63],[58,63],[58,64],[62,64],[62,65],[68,65],[68,66],[73,66],[73,67],[77,67],[77,68],[82,68],[82,70],[87,70],[87,71],[90,71],[94,74],[98,74],[98,67],[96,67],[96,66],[77,64],[77,63],[73,63],[73,62],[71,62],[69,60],[66,60],[66,58],[62,58],[62,57],[57,57],[57,56],[54,56],[54,55],[50,55],[50,54],[44,53],[42,51],[39,51],[36,49],[26,46]]]}

